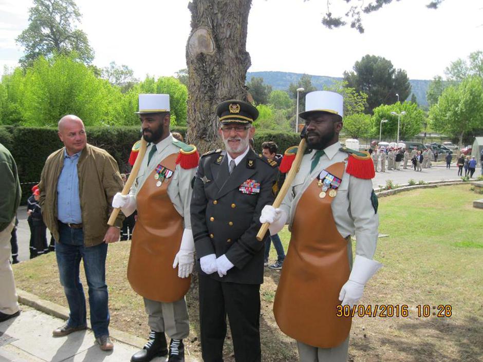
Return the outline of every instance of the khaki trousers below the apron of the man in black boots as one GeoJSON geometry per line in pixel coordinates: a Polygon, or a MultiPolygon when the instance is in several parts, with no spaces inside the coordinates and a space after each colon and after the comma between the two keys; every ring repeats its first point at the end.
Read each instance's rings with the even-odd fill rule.
{"type": "Polygon", "coordinates": [[[170,338],[183,339],[190,334],[190,321],[184,297],[172,303],[147,298],[144,309],[148,314],[147,325],[153,331],[165,332],[170,338]]]}

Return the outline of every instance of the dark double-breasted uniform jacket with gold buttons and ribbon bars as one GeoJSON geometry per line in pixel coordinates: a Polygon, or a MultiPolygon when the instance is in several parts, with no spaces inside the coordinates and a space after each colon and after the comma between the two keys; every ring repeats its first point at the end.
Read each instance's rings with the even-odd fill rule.
{"type": "Polygon", "coordinates": [[[231,175],[226,151],[211,151],[201,157],[191,199],[197,258],[226,254],[235,265],[222,278],[216,272],[211,274],[213,279],[245,284],[263,282],[264,244],[269,233],[263,241],[256,240],[256,234],[261,227],[258,219],[262,208],[273,203],[277,176],[276,162],[251,149],[231,175]],[[244,183],[254,187],[244,193],[244,183]]]}

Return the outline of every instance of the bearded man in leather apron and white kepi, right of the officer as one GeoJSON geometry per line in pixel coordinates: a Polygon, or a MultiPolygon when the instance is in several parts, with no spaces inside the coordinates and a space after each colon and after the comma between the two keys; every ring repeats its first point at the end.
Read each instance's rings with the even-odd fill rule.
{"type": "Polygon", "coordinates": [[[282,206],[265,206],[260,218],[271,233],[286,221],[292,233],[273,311],[280,329],[297,340],[302,362],[346,362],[351,319],[337,312],[359,301],[380,267],[372,260],[379,224],[374,165],[367,153],[339,143],[340,94],[310,92],[305,104],[308,150],[282,206]]]}

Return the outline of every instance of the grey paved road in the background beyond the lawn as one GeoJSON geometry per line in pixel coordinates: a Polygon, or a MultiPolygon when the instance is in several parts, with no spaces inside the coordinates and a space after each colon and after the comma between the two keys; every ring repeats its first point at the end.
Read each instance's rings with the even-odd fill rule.
{"type": "MultiPolygon", "coordinates": [[[[479,167],[476,168],[474,178],[481,174],[479,167]]],[[[450,169],[447,169],[445,165],[434,165],[432,168],[423,168],[421,172],[416,172],[412,168],[401,169],[399,171],[391,170],[384,173],[376,173],[376,177],[373,179],[374,189],[379,189],[379,185],[385,185],[387,180],[392,180],[395,184],[405,184],[410,179],[416,182],[423,181],[443,181],[443,180],[458,180],[457,167],[455,164],[451,165],[450,169]]],[[[29,259],[29,240],[30,240],[30,230],[27,224],[27,208],[26,206],[21,206],[18,208],[18,254],[20,261],[25,261],[29,259]]],[[[50,240],[50,234],[47,231],[48,238],[50,240]]]]}

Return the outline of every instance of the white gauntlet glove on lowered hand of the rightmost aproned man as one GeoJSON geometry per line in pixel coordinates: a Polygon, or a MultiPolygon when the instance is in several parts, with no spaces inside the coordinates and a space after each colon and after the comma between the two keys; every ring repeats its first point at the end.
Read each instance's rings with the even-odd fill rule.
{"type": "Polygon", "coordinates": [[[342,285],[339,300],[342,306],[348,305],[350,308],[357,304],[364,292],[364,285],[381,268],[382,264],[363,256],[356,255],[349,280],[342,285]]]}

